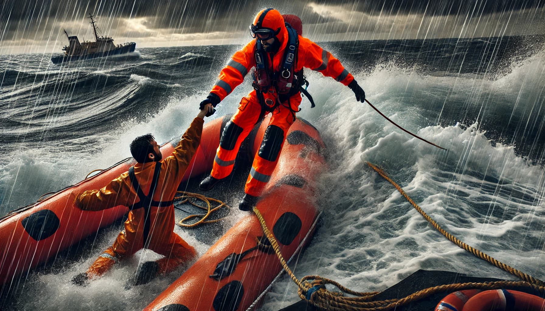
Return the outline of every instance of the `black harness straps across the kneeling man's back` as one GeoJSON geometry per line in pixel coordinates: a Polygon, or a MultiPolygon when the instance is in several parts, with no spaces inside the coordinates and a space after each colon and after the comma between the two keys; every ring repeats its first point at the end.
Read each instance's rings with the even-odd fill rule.
{"type": "Polygon", "coordinates": [[[139,208],[144,209],[144,233],[143,233],[143,239],[142,239],[143,243],[144,243],[144,248],[146,248],[146,246],[147,246],[149,229],[151,227],[151,219],[150,219],[151,207],[152,206],[155,206],[155,207],[170,206],[172,204],[172,202],[173,202],[173,201],[160,201],[159,202],[159,201],[154,201],[152,199],[153,194],[155,193],[155,190],[157,188],[157,182],[159,180],[159,174],[160,173],[161,173],[161,162],[157,162],[155,164],[155,170],[154,170],[154,173],[153,173],[152,184],[150,185],[149,193],[146,196],[146,194],[144,194],[144,192],[142,192],[142,188],[140,187],[140,184],[138,183],[138,180],[136,179],[134,166],[131,166],[129,168],[129,178],[131,180],[132,187],[135,189],[136,195],[138,196],[138,198],[140,198],[140,202],[132,204],[131,206],[129,206],[129,209],[130,210],[139,209],[139,208]]]}

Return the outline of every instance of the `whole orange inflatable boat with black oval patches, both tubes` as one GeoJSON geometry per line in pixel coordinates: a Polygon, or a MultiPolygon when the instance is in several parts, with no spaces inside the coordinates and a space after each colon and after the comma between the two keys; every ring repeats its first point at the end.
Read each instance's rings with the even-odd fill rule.
{"type": "MultiPolygon", "coordinates": [[[[218,118],[203,129],[201,145],[183,181],[211,169],[220,135],[230,116],[218,118]]],[[[245,147],[250,158],[257,152],[269,123],[266,118],[250,133],[245,147]]],[[[166,157],[179,137],[161,145],[166,157]]],[[[290,127],[278,164],[257,208],[280,244],[284,258],[292,258],[307,242],[318,219],[316,187],[325,168],[325,145],[318,131],[298,119],[290,127]]],[[[104,187],[136,162],[132,158],[102,170],[37,203],[0,218],[0,286],[2,294],[19,277],[123,217],[127,208],[92,212],[72,206],[71,193],[104,187]]],[[[244,191],[241,189],[240,191],[244,191]]],[[[220,198],[221,199],[221,198],[220,198]]],[[[160,294],[146,310],[245,310],[282,272],[257,217],[250,212],[183,275],[160,294]],[[196,297],[199,293],[199,297],[196,297]]]]}

